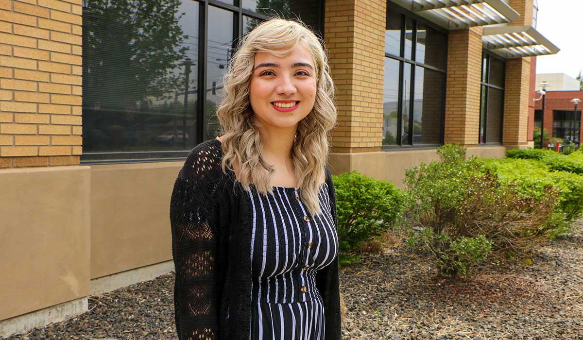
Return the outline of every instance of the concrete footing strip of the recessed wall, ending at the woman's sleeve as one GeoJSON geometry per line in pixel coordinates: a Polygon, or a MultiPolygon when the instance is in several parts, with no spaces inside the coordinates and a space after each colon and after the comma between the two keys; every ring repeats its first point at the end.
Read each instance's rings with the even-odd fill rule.
{"type": "Polygon", "coordinates": [[[103,276],[90,282],[91,295],[100,295],[133,285],[134,283],[149,281],[157,276],[174,271],[174,262],[166,261],[146,267],[131,269],[129,271],[103,276]]]}

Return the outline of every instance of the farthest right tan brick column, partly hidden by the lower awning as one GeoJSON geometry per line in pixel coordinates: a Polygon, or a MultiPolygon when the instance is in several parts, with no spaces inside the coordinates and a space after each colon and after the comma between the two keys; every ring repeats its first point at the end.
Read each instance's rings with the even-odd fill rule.
{"type": "MultiPolygon", "coordinates": [[[[511,0],[510,6],[520,17],[512,26],[532,24],[532,0],[511,0]]],[[[506,62],[504,84],[503,143],[507,148],[528,145],[528,106],[531,76],[531,58],[517,58],[506,62]]]]}

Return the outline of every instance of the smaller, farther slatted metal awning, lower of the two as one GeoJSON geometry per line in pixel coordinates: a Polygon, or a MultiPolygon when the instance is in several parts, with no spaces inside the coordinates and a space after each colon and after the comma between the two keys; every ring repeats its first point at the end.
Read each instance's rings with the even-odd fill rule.
{"type": "Polygon", "coordinates": [[[506,59],[557,54],[560,51],[532,26],[484,27],[482,43],[485,50],[506,59]]]}

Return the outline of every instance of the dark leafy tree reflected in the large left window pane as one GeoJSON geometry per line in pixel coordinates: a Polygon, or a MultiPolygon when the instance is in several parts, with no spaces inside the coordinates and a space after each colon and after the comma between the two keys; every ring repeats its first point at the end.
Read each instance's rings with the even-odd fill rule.
{"type": "MultiPolygon", "coordinates": [[[[184,87],[180,0],[83,2],[84,106],[132,110],[184,87]]],[[[182,91],[184,91],[182,89],[182,91]]],[[[151,103],[150,103],[151,104],[151,103]]]]}

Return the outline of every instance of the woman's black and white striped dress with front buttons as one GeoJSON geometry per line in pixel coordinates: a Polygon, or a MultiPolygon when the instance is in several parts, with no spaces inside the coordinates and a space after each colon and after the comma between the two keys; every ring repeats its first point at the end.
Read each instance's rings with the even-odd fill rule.
{"type": "MultiPolygon", "coordinates": [[[[252,187],[254,188],[254,187],[252,187]]],[[[322,215],[312,216],[298,188],[273,195],[247,192],[252,208],[251,339],[323,340],[324,309],[316,272],[338,255],[328,185],[319,188],[322,215]]]]}

